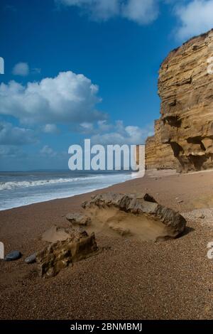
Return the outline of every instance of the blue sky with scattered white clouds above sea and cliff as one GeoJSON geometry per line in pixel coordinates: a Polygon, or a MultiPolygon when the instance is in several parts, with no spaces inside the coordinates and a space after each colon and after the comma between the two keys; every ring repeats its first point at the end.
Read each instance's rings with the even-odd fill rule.
{"type": "Polygon", "coordinates": [[[213,0],[0,0],[0,171],[66,169],[84,139],[144,144],[160,63],[212,13],[213,0]]]}

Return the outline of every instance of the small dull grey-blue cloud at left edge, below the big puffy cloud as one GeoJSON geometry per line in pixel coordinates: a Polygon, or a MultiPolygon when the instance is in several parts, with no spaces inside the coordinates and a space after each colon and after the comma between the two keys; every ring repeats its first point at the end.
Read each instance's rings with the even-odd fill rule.
{"type": "Polygon", "coordinates": [[[33,144],[37,141],[34,131],[24,129],[8,122],[0,122],[1,145],[24,145],[33,144]]]}

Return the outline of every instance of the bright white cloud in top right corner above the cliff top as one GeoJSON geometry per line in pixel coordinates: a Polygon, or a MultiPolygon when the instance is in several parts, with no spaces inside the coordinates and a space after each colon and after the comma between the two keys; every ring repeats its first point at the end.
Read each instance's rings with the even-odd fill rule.
{"type": "Polygon", "coordinates": [[[200,35],[213,28],[213,0],[193,0],[175,9],[180,21],[177,35],[180,40],[200,35]]]}

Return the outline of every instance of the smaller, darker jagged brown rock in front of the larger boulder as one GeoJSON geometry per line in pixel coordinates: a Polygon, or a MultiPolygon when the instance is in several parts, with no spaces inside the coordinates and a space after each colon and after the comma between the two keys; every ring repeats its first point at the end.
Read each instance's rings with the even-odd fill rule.
{"type": "Polygon", "coordinates": [[[54,242],[36,255],[41,277],[52,277],[70,264],[85,259],[97,251],[94,233],[87,235],[85,231],[73,230],[70,237],[54,242]]]}

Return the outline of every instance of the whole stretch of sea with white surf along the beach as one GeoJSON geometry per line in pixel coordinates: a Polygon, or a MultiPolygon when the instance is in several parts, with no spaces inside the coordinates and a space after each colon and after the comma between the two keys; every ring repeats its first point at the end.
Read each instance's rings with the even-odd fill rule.
{"type": "Polygon", "coordinates": [[[131,171],[0,172],[0,210],[89,193],[128,181],[135,174],[131,171]]]}

